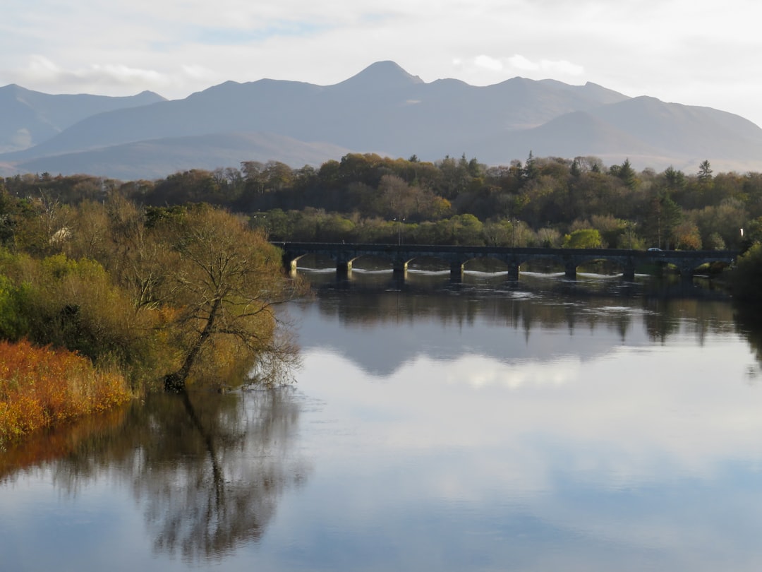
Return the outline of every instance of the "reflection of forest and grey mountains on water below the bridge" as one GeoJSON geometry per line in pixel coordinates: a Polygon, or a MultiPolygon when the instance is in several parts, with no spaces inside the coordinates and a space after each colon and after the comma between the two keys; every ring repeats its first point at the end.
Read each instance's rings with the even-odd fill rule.
{"type": "Polygon", "coordinates": [[[452,361],[477,353],[502,362],[574,355],[585,362],[620,345],[664,345],[686,335],[702,344],[710,333],[734,330],[726,294],[673,282],[530,275],[511,285],[503,276],[482,274],[452,284],[424,274],[395,289],[389,288],[387,272],[356,273],[351,288],[344,289],[335,275],[318,272],[309,278],[319,296],[303,311],[319,312],[325,319],[319,328],[331,331],[313,331],[315,322],[307,320],[305,349],[328,345],[379,375],[392,374],[418,355],[452,361]],[[665,295],[672,288],[684,295],[665,295]]]}

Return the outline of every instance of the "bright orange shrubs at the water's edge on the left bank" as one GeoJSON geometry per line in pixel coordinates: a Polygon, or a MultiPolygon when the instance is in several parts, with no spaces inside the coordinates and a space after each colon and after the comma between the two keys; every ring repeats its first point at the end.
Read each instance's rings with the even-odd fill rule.
{"type": "Polygon", "coordinates": [[[98,371],[81,355],[0,342],[0,445],[129,399],[121,374],[98,371]]]}

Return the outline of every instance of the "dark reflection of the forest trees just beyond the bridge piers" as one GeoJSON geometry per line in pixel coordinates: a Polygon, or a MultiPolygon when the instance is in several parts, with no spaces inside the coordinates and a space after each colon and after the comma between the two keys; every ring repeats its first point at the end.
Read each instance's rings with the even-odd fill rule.
{"type": "Polygon", "coordinates": [[[498,284],[494,288],[467,289],[461,285],[436,289],[426,284],[408,284],[415,296],[389,291],[370,284],[352,291],[321,291],[319,309],[324,316],[336,316],[341,323],[371,326],[379,323],[414,323],[421,317],[434,318],[443,325],[472,325],[477,320],[499,323],[523,330],[527,339],[533,329],[607,329],[626,341],[633,326],[632,312],[611,312],[611,307],[629,307],[644,316],[649,338],[664,342],[679,333],[689,317],[696,335],[725,327],[731,320],[729,297],[691,284],[633,284],[621,281],[570,283],[551,279],[525,281],[517,288],[498,284]],[[528,285],[527,285],[528,284],[528,285]],[[374,287],[375,286],[375,287],[374,287]],[[341,297],[341,303],[337,302],[341,297]],[[361,300],[347,303],[351,297],[361,300]]]}

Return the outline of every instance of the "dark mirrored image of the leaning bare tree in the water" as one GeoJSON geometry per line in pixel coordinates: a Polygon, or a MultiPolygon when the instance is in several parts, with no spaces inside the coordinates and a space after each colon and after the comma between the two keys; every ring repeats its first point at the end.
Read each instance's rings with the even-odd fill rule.
{"type": "Polygon", "coordinates": [[[172,397],[145,409],[154,439],[133,455],[133,487],[157,551],[221,558],[258,541],[283,490],[306,478],[287,463],[298,409],[288,390],[172,397]]]}

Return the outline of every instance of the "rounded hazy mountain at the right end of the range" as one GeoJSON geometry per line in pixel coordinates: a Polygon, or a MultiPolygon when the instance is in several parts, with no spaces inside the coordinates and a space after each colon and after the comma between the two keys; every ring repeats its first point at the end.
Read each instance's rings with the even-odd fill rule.
{"type": "Polygon", "coordinates": [[[635,98],[477,140],[469,148],[489,164],[523,160],[532,151],[538,157],[597,156],[607,165],[629,159],[639,169],[657,170],[672,165],[696,171],[709,159],[716,170],[746,172],[762,169],[760,137],[762,130],[733,114],[635,98]]]}

